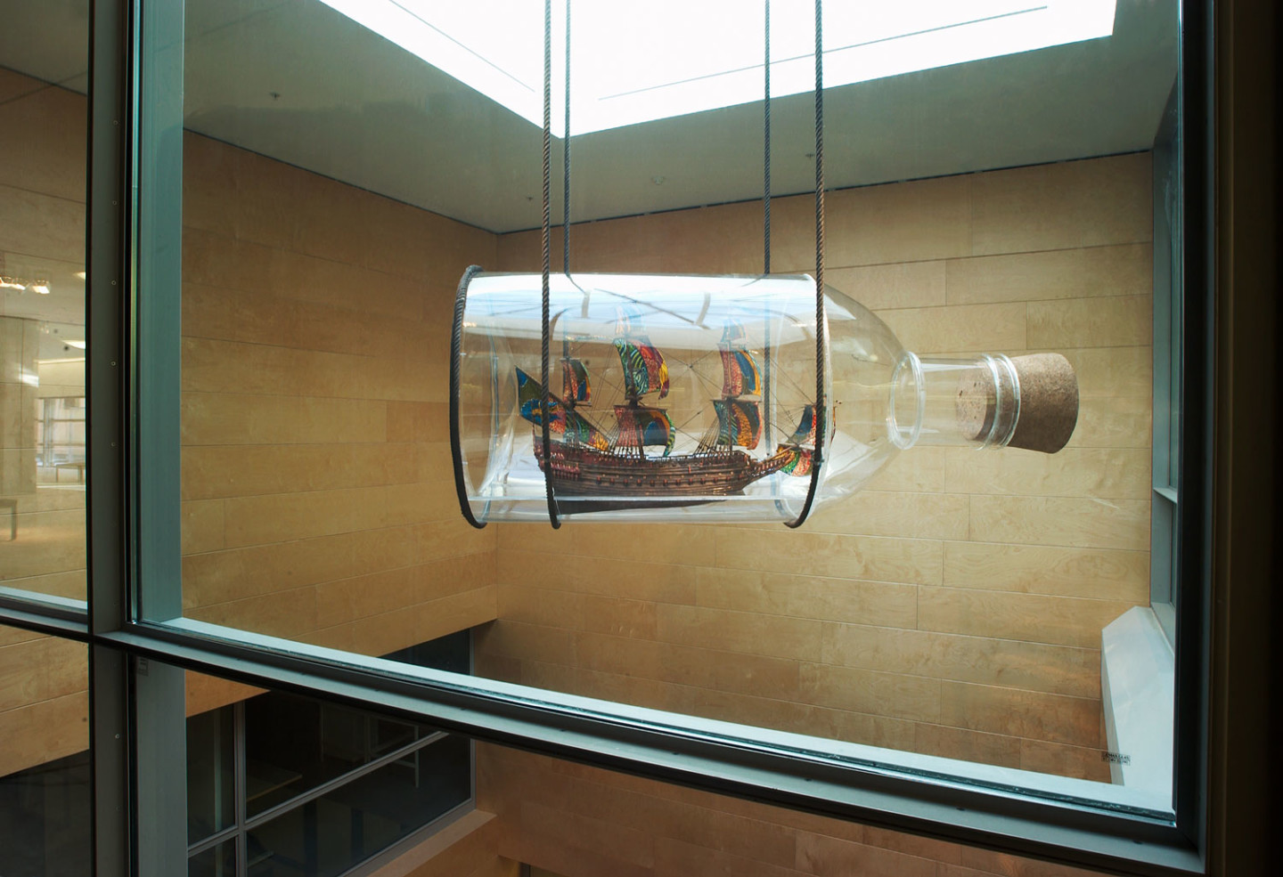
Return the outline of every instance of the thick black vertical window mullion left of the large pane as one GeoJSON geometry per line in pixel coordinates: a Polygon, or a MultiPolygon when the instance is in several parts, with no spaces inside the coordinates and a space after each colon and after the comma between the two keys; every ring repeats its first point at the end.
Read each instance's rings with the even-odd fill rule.
{"type": "MultiPolygon", "coordinates": [[[[126,621],[130,71],[132,26],[127,0],[95,0],[90,22],[86,338],[89,433],[87,604],[91,633],[126,621]]],[[[94,873],[132,873],[128,660],[92,642],[89,653],[90,760],[94,794],[94,873]]]]}

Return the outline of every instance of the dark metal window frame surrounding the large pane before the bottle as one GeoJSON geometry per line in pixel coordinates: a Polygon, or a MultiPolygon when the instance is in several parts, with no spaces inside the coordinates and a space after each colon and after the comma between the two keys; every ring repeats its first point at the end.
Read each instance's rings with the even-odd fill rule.
{"type": "MultiPolygon", "coordinates": [[[[575,712],[529,696],[497,696],[391,674],[377,662],[357,656],[348,664],[334,664],[268,650],[254,645],[253,637],[222,641],[140,622],[142,600],[149,614],[178,614],[169,603],[178,585],[176,410],[166,408],[177,399],[173,354],[178,336],[159,331],[172,324],[173,313],[164,305],[177,303],[178,288],[148,286],[140,295],[139,286],[140,273],[148,277],[148,271],[166,271],[164,265],[140,262],[148,256],[140,253],[140,210],[158,209],[144,201],[178,197],[163,188],[149,191],[145,183],[157,178],[149,178],[151,168],[139,160],[140,119],[151,109],[145,101],[140,104],[140,94],[146,87],[145,71],[155,72],[148,67],[144,50],[145,40],[155,35],[146,27],[158,21],[163,26],[164,13],[176,5],[181,9],[178,0],[91,0],[87,612],[0,595],[0,623],[90,645],[96,874],[169,877],[176,872],[167,868],[180,860],[174,850],[186,860],[182,805],[180,830],[164,831],[164,809],[173,805],[174,789],[182,791],[185,773],[167,776],[160,769],[173,763],[173,748],[166,751],[162,745],[160,753],[148,749],[163,741],[167,728],[172,731],[176,691],[181,696],[181,673],[174,669],[167,674],[158,665],[310,694],[479,740],[896,831],[1117,873],[1203,873],[1215,378],[1211,0],[1182,3],[1184,346],[1189,369],[1179,506],[1183,539],[1177,569],[1175,818],[1170,822],[1014,791],[981,791],[946,777],[912,777],[887,765],[842,764],[822,753],[784,751],[748,740],[711,737],[689,727],[648,724],[630,718],[631,710],[624,705],[600,714],[575,712]],[[146,18],[150,13],[160,18],[146,18]],[[144,467],[140,449],[149,442],[144,467]],[[169,442],[168,455],[158,460],[157,451],[169,442]],[[177,690],[174,680],[180,681],[177,690]]],[[[173,265],[171,259],[171,271],[173,265]]]]}

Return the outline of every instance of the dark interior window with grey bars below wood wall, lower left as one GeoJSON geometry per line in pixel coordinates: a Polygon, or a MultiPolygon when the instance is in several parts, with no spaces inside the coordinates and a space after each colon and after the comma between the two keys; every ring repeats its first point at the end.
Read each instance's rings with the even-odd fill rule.
{"type": "MultiPolygon", "coordinates": [[[[467,668],[468,637],[407,656],[467,668]]],[[[237,839],[250,873],[343,873],[468,804],[472,753],[420,724],[266,691],[187,719],[187,777],[192,874],[219,873],[237,839]]]]}

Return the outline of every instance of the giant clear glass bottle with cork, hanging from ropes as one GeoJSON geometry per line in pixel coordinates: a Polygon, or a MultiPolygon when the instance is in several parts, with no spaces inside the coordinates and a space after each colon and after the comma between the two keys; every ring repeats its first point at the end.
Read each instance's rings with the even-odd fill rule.
{"type": "Polygon", "coordinates": [[[541,277],[459,287],[452,444],[480,524],[547,521],[545,465],[565,521],[790,522],[817,462],[815,509],[917,445],[1055,453],[1076,423],[1064,356],[919,356],[831,287],[817,400],[806,274],[549,285],[547,456],[541,277]]]}

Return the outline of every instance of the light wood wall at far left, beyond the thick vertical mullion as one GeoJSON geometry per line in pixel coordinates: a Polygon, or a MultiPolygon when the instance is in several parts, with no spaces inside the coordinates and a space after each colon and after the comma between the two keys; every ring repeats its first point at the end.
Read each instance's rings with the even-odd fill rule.
{"type": "MultiPolygon", "coordinates": [[[[0,69],[0,263],[59,264],[85,258],[83,97],[0,69]]],[[[65,291],[63,283],[60,291],[65,291]]],[[[8,295],[8,294],[6,294],[8,295]]],[[[0,585],[85,597],[85,492],[37,485],[36,403],[80,395],[76,369],[49,380],[37,359],[40,324],[8,314],[0,296],[0,496],[15,500],[18,537],[0,512],[0,585]],[[41,386],[30,383],[40,374],[41,386]]],[[[0,777],[83,751],[89,745],[83,645],[0,627],[0,777]]]]}

